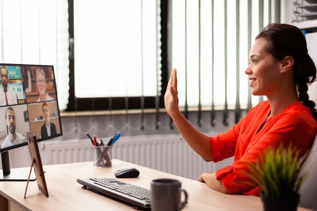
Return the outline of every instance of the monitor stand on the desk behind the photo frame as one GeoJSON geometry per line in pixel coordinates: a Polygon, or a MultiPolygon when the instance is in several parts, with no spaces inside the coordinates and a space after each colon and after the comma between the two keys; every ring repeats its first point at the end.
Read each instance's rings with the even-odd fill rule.
{"type": "MultiPolygon", "coordinates": [[[[30,173],[29,168],[11,168],[9,152],[1,153],[3,175],[0,175],[0,181],[27,181],[30,173]]],[[[34,171],[31,172],[30,181],[35,181],[34,171]]]]}

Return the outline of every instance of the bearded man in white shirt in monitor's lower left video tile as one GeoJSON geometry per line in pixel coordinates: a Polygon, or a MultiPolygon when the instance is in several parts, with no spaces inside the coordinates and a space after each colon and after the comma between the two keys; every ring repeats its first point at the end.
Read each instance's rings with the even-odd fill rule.
{"type": "Polygon", "coordinates": [[[10,147],[13,145],[21,144],[26,142],[26,138],[21,134],[15,132],[15,112],[12,107],[8,107],[6,111],[6,123],[8,126],[8,136],[1,145],[1,148],[10,147]]]}

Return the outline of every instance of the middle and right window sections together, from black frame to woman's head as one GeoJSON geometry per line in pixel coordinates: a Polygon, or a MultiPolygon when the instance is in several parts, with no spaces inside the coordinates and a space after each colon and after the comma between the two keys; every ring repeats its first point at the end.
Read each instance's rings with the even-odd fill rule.
{"type": "Polygon", "coordinates": [[[83,31],[76,32],[76,17],[78,17],[76,8],[85,2],[74,3],[74,81],[77,83],[74,85],[76,96],[74,105],[77,105],[75,110],[81,110],[83,107],[95,110],[153,108],[158,104],[159,107],[164,107],[163,96],[167,75],[172,67],[178,69],[179,105],[185,110],[245,109],[263,100],[263,98],[250,95],[248,77],[244,70],[248,66],[249,51],[255,36],[271,21],[271,1],[162,1],[161,21],[159,15],[153,15],[155,12],[155,14],[160,12],[159,4],[155,1],[126,1],[127,3],[123,0],[95,0],[93,4],[90,2],[89,5],[82,5],[85,12],[78,11],[77,13],[85,14],[85,19],[77,20],[77,24],[92,35],[104,34],[103,36],[94,35],[94,40],[85,39],[88,35],[84,35],[83,31]],[[99,7],[96,9],[94,4],[101,5],[101,3],[104,6],[100,7],[102,11],[99,11],[99,7]],[[94,9],[90,9],[90,6],[94,9]],[[119,16],[116,16],[118,12],[111,13],[117,10],[122,11],[119,16]],[[87,15],[89,11],[102,16],[87,15]],[[145,19],[149,21],[148,24],[144,21],[145,19]],[[99,22],[93,25],[91,24],[93,20],[99,20],[99,22]],[[156,29],[152,28],[155,23],[157,23],[156,29]],[[164,27],[169,25],[171,28],[164,33],[164,27]],[[116,28],[117,26],[119,28],[116,28]],[[161,34],[160,27],[163,31],[161,34]],[[114,35],[111,34],[113,31],[114,35]],[[79,41],[76,38],[78,36],[83,37],[84,44],[88,45],[90,50],[83,50],[83,47],[78,44],[79,41]],[[148,39],[149,43],[146,44],[144,37],[152,36],[153,38],[148,39]],[[162,36],[162,43],[158,41],[160,36],[162,36]],[[165,36],[167,36],[166,39],[165,36]],[[104,40],[103,37],[106,39],[104,40]],[[120,41],[116,43],[115,38],[119,38],[120,41]],[[110,43],[114,44],[114,47],[111,47],[110,43]],[[136,45],[129,47],[130,44],[136,45]],[[153,44],[155,46],[152,46],[153,44]],[[161,44],[162,48],[160,48],[161,44]],[[76,49],[77,46],[79,46],[78,49],[76,49]],[[101,47],[102,51],[100,51],[100,49],[92,50],[91,46],[104,47],[101,47]],[[149,47],[148,50],[146,50],[147,47],[149,47]],[[156,47],[158,49],[155,49],[156,47]],[[163,49],[165,47],[166,49],[163,49]],[[107,49],[110,49],[109,53],[106,53],[107,49]],[[77,54],[84,54],[78,63],[77,54]],[[79,62],[87,61],[87,55],[93,55],[93,58],[88,59],[91,62],[88,61],[87,65],[79,65],[79,62]],[[118,59],[115,59],[116,55],[118,59]],[[134,58],[132,55],[136,56],[135,59],[132,59],[134,58]],[[146,64],[145,60],[152,63],[146,64]],[[99,61],[108,66],[100,67],[99,61]],[[170,62],[167,66],[160,66],[167,61],[170,62]],[[91,65],[96,66],[93,68],[91,65]],[[82,76],[77,73],[78,69],[83,70],[82,76]],[[95,73],[98,70],[99,72],[95,73]],[[153,70],[154,72],[151,72],[153,70]],[[120,76],[114,76],[115,71],[120,76]],[[88,72],[95,74],[85,77],[88,72]],[[147,75],[145,72],[151,72],[151,74],[147,75]],[[95,75],[98,79],[94,79],[95,75]],[[113,78],[121,79],[118,81],[113,78]],[[83,82],[78,82],[80,79],[84,79],[83,82]],[[149,82],[152,86],[146,87],[144,82],[149,79],[153,79],[149,82]],[[112,83],[113,81],[116,85],[112,83]],[[96,88],[98,84],[102,86],[96,88]],[[92,90],[88,89],[89,85],[92,90]],[[118,87],[123,89],[120,91],[118,87]],[[150,89],[154,92],[145,92],[150,89]],[[101,94],[97,94],[98,91],[102,91],[101,94]]]}

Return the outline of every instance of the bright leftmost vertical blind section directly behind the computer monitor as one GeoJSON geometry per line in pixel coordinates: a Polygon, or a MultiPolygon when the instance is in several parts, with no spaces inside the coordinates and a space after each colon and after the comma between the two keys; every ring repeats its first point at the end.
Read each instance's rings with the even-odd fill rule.
{"type": "Polygon", "coordinates": [[[1,63],[54,65],[58,103],[69,96],[67,0],[0,0],[1,63]]]}

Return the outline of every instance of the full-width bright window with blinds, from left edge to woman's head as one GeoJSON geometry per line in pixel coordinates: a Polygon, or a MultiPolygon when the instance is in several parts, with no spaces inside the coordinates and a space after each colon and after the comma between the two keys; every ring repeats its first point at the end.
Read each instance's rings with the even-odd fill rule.
{"type": "Polygon", "coordinates": [[[270,0],[0,0],[0,58],[53,64],[62,110],[163,108],[176,67],[185,111],[239,111],[262,100],[244,70],[271,8],[270,0]]]}

